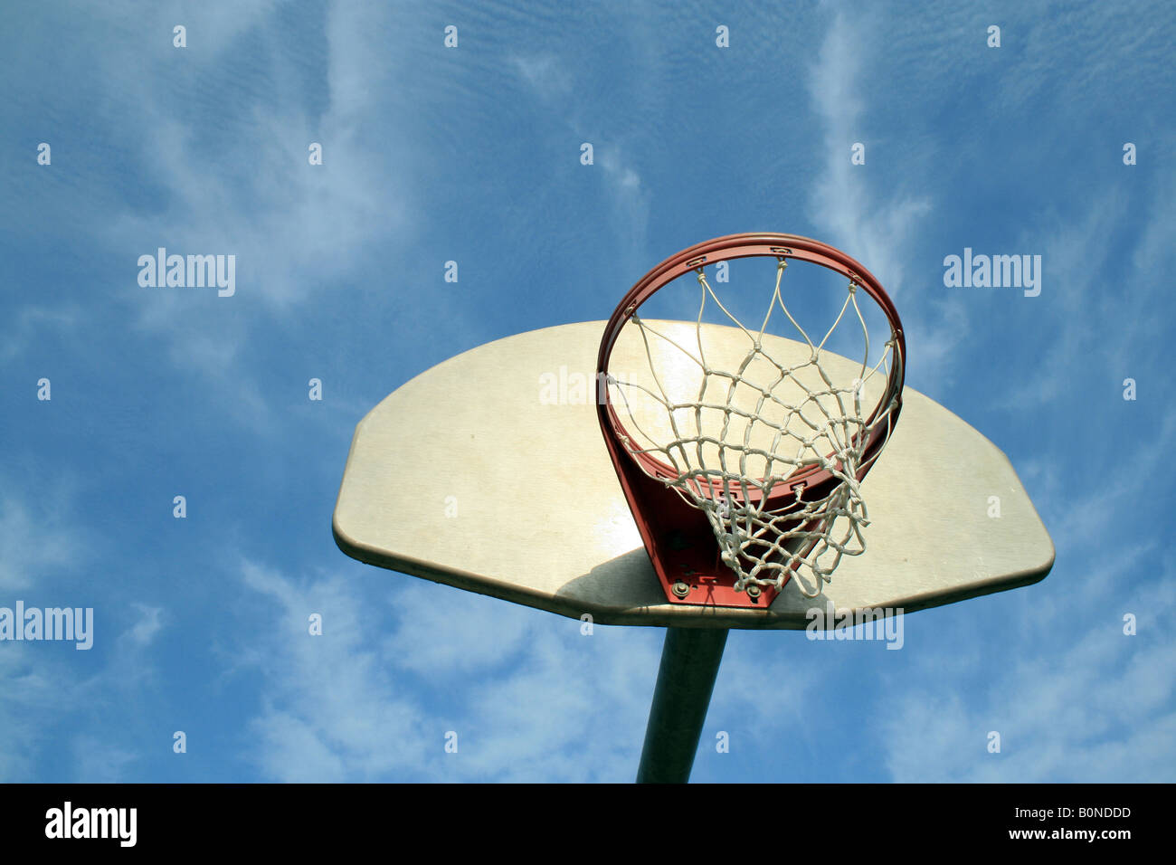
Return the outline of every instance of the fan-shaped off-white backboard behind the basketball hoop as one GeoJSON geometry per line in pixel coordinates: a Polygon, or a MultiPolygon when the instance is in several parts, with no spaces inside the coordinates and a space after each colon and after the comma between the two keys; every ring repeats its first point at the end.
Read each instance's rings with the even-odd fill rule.
{"type": "MultiPolygon", "coordinates": [[[[768,610],[669,604],[597,422],[603,326],[489,342],[388,395],[355,430],[334,514],[339,547],[562,616],[675,627],[804,628],[814,605],[914,612],[1036,583],[1053,566],[1054,545],[1008,458],[907,388],[862,485],[866,552],[842,560],[822,597],[806,598],[789,583],[768,610]],[[1000,517],[990,515],[993,497],[1000,517]]],[[[708,337],[721,342],[721,331],[730,328],[708,337]]],[[[787,342],[776,340],[774,355],[807,351],[787,342]]],[[[613,374],[648,367],[636,342],[614,348],[613,374]]]]}

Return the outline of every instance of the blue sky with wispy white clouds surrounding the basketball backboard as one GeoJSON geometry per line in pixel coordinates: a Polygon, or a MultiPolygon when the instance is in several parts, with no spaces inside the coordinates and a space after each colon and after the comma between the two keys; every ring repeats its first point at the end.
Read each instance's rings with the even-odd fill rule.
{"type": "Polygon", "coordinates": [[[1057,560],[1036,586],[907,617],[902,651],[733,632],[694,779],[1176,779],[1174,15],[11,12],[0,606],[93,607],[95,634],[0,643],[0,779],[630,780],[659,631],[586,639],[360,565],[330,513],[388,392],[492,339],[607,318],[653,264],[744,231],[820,238],[881,279],[907,384],[1009,455],[1057,560]],[[235,254],[235,293],[140,286],[160,246],[235,254]],[[1041,294],[946,287],[964,247],[1042,255],[1041,294]]]}

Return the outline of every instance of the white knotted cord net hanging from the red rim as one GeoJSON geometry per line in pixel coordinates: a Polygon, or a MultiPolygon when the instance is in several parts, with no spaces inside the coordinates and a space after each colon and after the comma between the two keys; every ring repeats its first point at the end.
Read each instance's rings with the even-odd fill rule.
{"type": "MultiPolygon", "coordinates": [[[[884,437],[889,440],[896,401],[881,406],[874,420],[867,424],[873,406],[867,406],[863,412],[862,391],[870,377],[880,371],[888,375],[890,365],[901,362],[902,359],[895,352],[895,334],[891,332],[882,358],[869,366],[869,332],[857,307],[857,286],[854,282],[849,284],[836,321],[821,342],[815,345],[784,306],[780,284],[787,267],[787,260],[780,258],[775,292],[759,332],[748,331],[728,312],[700,267],[702,302],[696,327],[697,352],[683,348],[633,314],[630,321],[641,331],[655,387],[619,381],[613,375],[607,381],[613,404],[617,406],[617,417],[630,433],[646,440],[646,444],[639,445],[634,441],[636,435],[622,434],[623,446],[630,454],[644,453],[673,468],[676,477],[655,475],[641,460],[636,460],[649,477],[673,488],[687,504],[706,513],[719,543],[720,557],[737,578],[735,591],[746,591],[750,585],[781,590],[789,578],[795,578],[800,591],[814,598],[830,581],[842,555],[858,555],[866,550],[862,528],[869,525],[869,519],[857,481],[863,466],[862,451],[870,433],[880,424],[884,425],[884,437]],[[708,298],[748,338],[747,353],[734,372],[715,370],[707,362],[702,314],[708,298]],[[777,306],[810,350],[810,357],[794,366],[781,365],[763,346],[764,332],[777,306]],[[821,353],[850,307],[862,327],[866,355],[857,379],[846,385],[835,385],[821,365],[821,353]],[[667,395],[650,353],[650,337],[666,340],[700,367],[702,385],[696,400],[673,401],[667,395]],[[771,380],[762,380],[762,373],[757,375],[757,380],[747,378],[753,361],[756,361],[754,366],[761,371],[764,368],[761,361],[768,361],[771,380]],[[799,378],[806,371],[815,371],[823,386],[806,386],[799,378]],[[794,393],[796,387],[801,388],[800,401],[784,399],[781,386],[786,382],[790,382],[786,390],[794,393]],[[761,394],[754,410],[735,404],[736,390],[740,387],[743,392],[750,387],[761,394]],[[632,390],[641,391],[661,404],[668,415],[670,438],[659,441],[641,428],[629,402],[632,390]],[[723,390],[726,398],[716,399],[715,394],[723,390]],[[621,406],[628,415],[627,420],[621,406]],[[693,424],[682,422],[683,410],[686,418],[694,418],[693,424]],[[704,433],[702,414],[714,411],[722,413],[722,427],[717,433],[713,428],[704,433]],[[734,425],[733,419],[736,421],[734,425]],[[770,447],[753,446],[751,431],[756,425],[773,431],[770,447]],[[691,426],[693,430],[688,428],[691,426]],[[710,454],[709,459],[706,453],[710,454]],[[748,473],[749,459],[756,466],[766,467],[762,473],[755,472],[759,477],[748,473]],[[799,493],[803,490],[803,484],[799,484],[791,490],[794,494],[788,497],[786,506],[775,511],[763,506],[770,494],[789,487],[790,475],[814,465],[830,472],[837,481],[828,495],[814,501],[802,501],[799,493]]],[[[811,374],[808,378],[811,381],[811,374]]],[[[881,448],[871,459],[880,452],[881,448]]]]}

